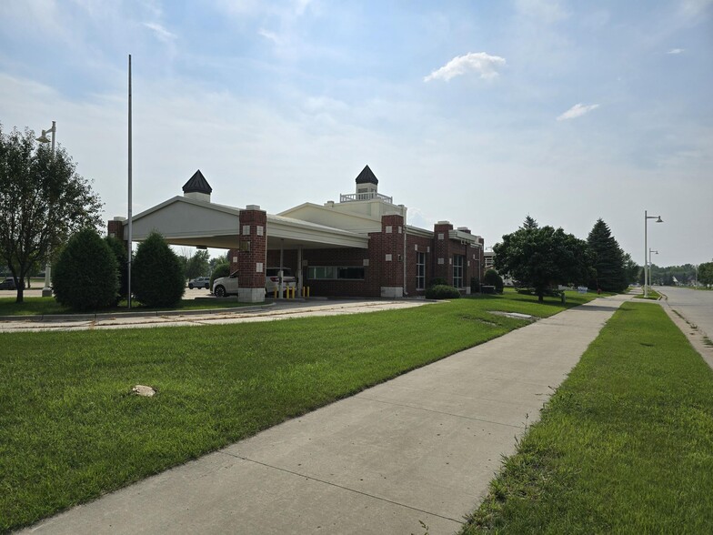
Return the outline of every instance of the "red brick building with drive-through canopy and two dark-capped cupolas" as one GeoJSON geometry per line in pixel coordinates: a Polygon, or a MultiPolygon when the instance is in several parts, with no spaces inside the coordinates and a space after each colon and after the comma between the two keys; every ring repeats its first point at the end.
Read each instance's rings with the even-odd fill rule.
{"type": "MultiPolygon", "coordinates": [[[[212,203],[200,171],[183,189],[183,197],[134,217],[134,239],[156,229],[175,245],[229,249],[240,300],[264,299],[266,267],[292,269],[297,287],[308,286],[312,296],[341,297],[422,296],[433,278],[470,293],[471,278],[484,273],[482,237],[448,221],[433,230],[407,225],[407,207],[378,193],[368,166],[356,177],[355,193],[338,203],[304,203],[277,215],[212,203]]],[[[115,217],[108,231],[124,239],[125,227],[115,217]]]]}

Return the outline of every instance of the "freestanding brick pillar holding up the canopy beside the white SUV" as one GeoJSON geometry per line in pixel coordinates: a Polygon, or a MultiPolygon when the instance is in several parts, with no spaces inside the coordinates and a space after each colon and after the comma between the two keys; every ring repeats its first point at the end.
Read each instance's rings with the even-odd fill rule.
{"type": "MultiPolygon", "coordinates": [[[[240,210],[238,228],[241,247],[236,252],[237,300],[258,303],[265,300],[267,259],[267,213],[256,205],[240,210]],[[249,245],[248,245],[249,244],[249,245]]],[[[231,259],[231,268],[234,266],[231,259]]]]}

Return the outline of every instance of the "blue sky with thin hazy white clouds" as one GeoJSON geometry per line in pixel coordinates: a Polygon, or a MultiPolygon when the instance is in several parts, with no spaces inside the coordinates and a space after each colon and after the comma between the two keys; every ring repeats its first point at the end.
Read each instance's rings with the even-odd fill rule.
{"type": "Polygon", "coordinates": [[[643,264],[713,259],[713,0],[4,0],[0,124],[56,140],[127,214],[353,193],[492,247],[527,215],[643,264]]]}

